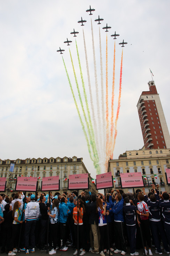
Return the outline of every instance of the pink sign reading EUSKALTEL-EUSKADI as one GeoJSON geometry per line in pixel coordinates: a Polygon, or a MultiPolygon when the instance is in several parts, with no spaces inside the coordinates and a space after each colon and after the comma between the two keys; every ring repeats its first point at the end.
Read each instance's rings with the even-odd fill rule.
{"type": "Polygon", "coordinates": [[[88,189],[88,173],[72,174],[68,177],[68,189],[88,189]]]}

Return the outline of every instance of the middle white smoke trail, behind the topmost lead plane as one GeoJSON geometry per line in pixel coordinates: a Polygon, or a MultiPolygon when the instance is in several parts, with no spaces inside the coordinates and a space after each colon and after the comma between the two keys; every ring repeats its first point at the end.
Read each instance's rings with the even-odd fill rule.
{"type": "Polygon", "coordinates": [[[98,148],[98,156],[99,160],[101,160],[101,118],[100,118],[100,107],[99,107],[99,97],[98,97],[98,83],[97,83],[97,68],[96,68],[96,57],[95,57],[95,45],[94,45],[94,35],[93,35],[93,25],[91,20],[91,35],[92,35],[92,45],[93,45],[93,61],[94,61],[94,72],[95,72],[95,87],[96,87],[96,103],[97,103],[97,119],[98,119],[98,134],[96,136],[99,137],[99,148],[98,148]]]}

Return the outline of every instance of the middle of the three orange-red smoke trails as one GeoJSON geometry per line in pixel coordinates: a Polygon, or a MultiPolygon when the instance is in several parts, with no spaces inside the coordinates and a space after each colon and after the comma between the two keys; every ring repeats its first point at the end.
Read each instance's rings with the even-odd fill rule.
{"type": "Polygon", "coordinates": [[[113,128],[114,128],[114,80],[115,80],[115,40],[114,40],[114,59],[113,59],[113,81],[112,81],[112,103],[111,103],[111,127],[110,127],[110,143],[109,143],[109,156],[113,159],[113,128]]]}

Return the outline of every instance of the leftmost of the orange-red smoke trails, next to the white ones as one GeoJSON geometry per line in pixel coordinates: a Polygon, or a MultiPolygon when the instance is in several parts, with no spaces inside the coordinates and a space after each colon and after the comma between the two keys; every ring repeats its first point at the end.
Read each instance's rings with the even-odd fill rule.
{"type": "MultiPolygon", "coordinates": [[[[106,34],[106,162],[105,168],[108,164],[109,155],[109,104],[108,104],[108,36],[106,34]]],[[[107,170],[106,170],[107,171],[107,170]]]]}

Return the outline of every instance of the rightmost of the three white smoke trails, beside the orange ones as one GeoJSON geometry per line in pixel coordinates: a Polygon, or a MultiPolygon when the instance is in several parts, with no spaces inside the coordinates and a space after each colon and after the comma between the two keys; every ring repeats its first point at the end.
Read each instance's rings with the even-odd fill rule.
{"type": "Polygon", "coordinates": [[[105,127],[106,127],[106,122],[105,122],[105,106],[104,106],[104,86],[103,86],[103,61],[102,61],[102,44],[101,44],[101,34],[100,34],[100,27],[99,27],[99,46],[100,46],[100,69],[101,69],[101,102],[102,102],[102,159],[101,159],[101,164],[102,164],[102,169],[104,170],[104,161],[105,161],[105,144],[106,144],[106,136],[105,136],[105,127]]]}

